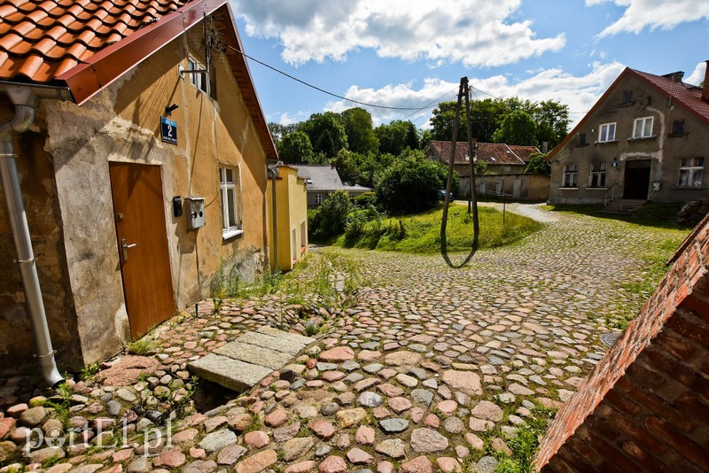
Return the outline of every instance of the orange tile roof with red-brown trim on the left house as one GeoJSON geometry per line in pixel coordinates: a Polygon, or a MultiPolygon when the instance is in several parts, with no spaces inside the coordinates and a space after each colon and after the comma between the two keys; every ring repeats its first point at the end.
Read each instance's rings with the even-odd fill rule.
{"type": "MultiPolygon", "coordinates": [[[[82,105],[214,14],[244,50],[228,0],[0,0],[0,81],[66,86],[82,105]]],[[[269,159],[276,146],[244,56],[226,52],[269,159]]]]}

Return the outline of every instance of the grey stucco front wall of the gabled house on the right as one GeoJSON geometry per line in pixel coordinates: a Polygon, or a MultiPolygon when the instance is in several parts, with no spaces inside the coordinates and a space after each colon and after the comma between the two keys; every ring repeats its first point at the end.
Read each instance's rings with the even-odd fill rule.
{"type": "Polygon", "coordinates": [[[549,202],[552,204],[601,204],[606,190],[589,187],[591,163],[605,162],[607,166],[608,197],[620,198],[624,193],[628,161],[650,159],[650,190],[647,199],[658,202],[685,202],[709,197],[709,173],[705,170],[702,189],[682,189],[679,182],[680,160],[709,158],[709,125],[698,120],[681,105],[660,94],[643,81],[628,75],[611,90],[603,104],[582,123],[571,140],[551,159],[549,202]],[[633,91],[633,103],[622,104],[625,90],[633,91]],[[653,137],[632,139],[637,118],[653,117],[653,137]],[[686,136],[670,136],[674,120],[685,120],[686,136]],[[604,123],[616,122],[616,141],[597,143],[599,128],[604,123]],[[579,145],[578,135],[586,134],[587,145],[579,145]],[[631,139],[628,139],[631,138],[631,139]],[[617,159],[618,167],[612,167],[617,159]],[[578,164],[578,188],[562,187],[565,164],[578,164]],[[658,182],[658,190],[653,183],[658,182]],[[615,184],[615,187],[610,190],[615,184]]]}

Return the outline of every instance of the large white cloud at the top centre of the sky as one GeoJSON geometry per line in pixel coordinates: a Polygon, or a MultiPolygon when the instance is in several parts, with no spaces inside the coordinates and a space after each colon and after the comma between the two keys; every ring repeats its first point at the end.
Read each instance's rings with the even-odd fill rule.
{"type": "Polygon", "coordinates": [[[432,66],[503,66],[561,50],[563,34],[537,38],[528,20],[511,19],[521,0],[231,0],[247,35],[278,38],[284,61],[341,61],[370,48],[382,58],[432,66]]]}

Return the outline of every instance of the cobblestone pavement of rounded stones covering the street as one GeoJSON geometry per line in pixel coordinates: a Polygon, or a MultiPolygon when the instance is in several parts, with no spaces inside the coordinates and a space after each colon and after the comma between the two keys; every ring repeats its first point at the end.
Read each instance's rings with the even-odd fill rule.
{"type": "Polygon", "coordinates": [[[560,406],[603,356],[619,299],[639,309],[642,299],[620,288],[643,279],[648,249],[682,236],[565,213],[548,220],[464,269],[440,255],[317,249],[311,258],[356,268],[357,289],[339,307],[282,294],[217,310],[205,301],[199,316],[155,330],[157,355],[106,363],[63,396],[4,380],[0,459],[19,463],[0,472],[27,463],[52,473],[492,471],[491,451],[509,452],[536,407],[560,406]],[[320,323],[315,345],[250,392],[201,412],[180,402],[194,387],[188,361],[262,324],[320,323]],[[63,446],[47,446],[52,430],[63,446]]]}

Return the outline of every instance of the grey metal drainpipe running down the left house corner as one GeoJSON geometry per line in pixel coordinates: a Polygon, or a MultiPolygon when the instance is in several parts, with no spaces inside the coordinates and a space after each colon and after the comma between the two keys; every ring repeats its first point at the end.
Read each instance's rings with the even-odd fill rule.
{"type": "MultiPolygon", "coordinates": [[[[29,309],[29,320],[35,335],[35,357],[39,361],[44,381],[54,387],[64,378],[59,375],[57,363],[54,361],[54,350],[51,347],[50,330],[47,326],[47,315],[44,313],[42,291],[37,276],[35,253],[32,250],[32,240],[27,226],[27,213],[22,202],[22,192],[19,189],[19,177],[15,152],[12,141],[16,136],[27,131],[35,121],[35,108],[39,98],[31,88],[20,86],[3,87],[15,107],[12,120],[0,125],[0,178],[3,182],[7,216],[12,229],[12,239],[15,243],[19,275],[25,289],[25,299],[29,309]]],[[[56,95],[56,94],[55,94],[56,95]]]]}

